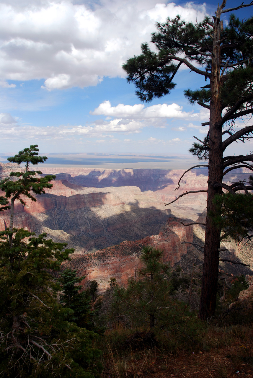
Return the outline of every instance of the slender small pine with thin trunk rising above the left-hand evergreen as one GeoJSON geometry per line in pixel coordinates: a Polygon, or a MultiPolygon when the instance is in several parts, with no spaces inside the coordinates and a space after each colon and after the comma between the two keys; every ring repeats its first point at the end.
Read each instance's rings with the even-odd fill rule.
{"type": "MultiPolygon", "coordinates": [[[[25,206],[25,197],[31,198],[32,201],[36,201],[34,195],[45,193],[45,188],[51,188],[50,181],[56,178],[53,175],[46,175],[45,177],[36,177],[41,175],[40,170],[29,170],[30,164],[37,165],[47,160],[46,156],[39,156],[39,149],[37,144],[31,145],[28,148],[23,149],[17,155],[9,157],[12,163],[22,164],[25,163],[25,169],[23,172],[11,172],[11,178],[5,178],[0,181],[0,189],[5,192],[7,198],[11,198],[11,213],[10,213],[10,225],[9,231],[13,229],[14,220],[14,202],[19,200],[25,206]]],[[[3,209],[3,208],[2,208],[3,209]]],[[[12,233],[8,234],[10,246],[12,246],[12,233]]]]}

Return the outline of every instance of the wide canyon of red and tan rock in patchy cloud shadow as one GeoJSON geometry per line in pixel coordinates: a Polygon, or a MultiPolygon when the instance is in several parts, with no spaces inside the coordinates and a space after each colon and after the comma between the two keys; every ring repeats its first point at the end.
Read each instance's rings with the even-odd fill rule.
{"type": "MultiPolygon", "coordinates": [[[[0,163],[0,178],[22,169],[0,163]]],[[[197,251],[182,242],[194,238],[203,242],[201,228],[185,227],[181,222],[197,220],[205,210],[206,192],[190,193],[169,206],[165,203],[184,192],[206,190],[206,167],[187,172],[180,186],[177,183],[184,170],[43,165],[39,169],[43,175],[56,175],[53,187],[37,195],[36,202],[26,199],[23,206],[15,201],[14,227],[46,232],[56,242],[67,242],[75,248],[71,265],[86,280],[96,279],[100,290],[108,287],[111,276],[124,284],[136,274],[143,245],[163,249],[164,261],[173,266],[184,260],[187,251],[197,251]]],[[[247,169],[236,169],[225,181],[244,180],[248,174],[247,169]]],[[[0,213],[0,229],[8,225],[9,211],[0,213]]]]}

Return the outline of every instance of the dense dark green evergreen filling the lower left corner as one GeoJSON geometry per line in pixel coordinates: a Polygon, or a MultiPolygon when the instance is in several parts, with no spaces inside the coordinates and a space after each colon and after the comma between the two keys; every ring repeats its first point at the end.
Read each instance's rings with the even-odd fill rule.
{"type": "Polygon", "coordinates": [[[69,322],[73,310],[54,294],[51,272],[74,250],[45,237],[0,232],[0,376],[94,378],[101,368],[97,335],[69,322]]]}

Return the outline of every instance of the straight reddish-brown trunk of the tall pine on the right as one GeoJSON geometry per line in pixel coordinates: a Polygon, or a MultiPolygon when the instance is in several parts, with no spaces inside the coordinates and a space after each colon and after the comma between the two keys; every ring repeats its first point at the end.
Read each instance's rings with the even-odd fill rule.
{"type": "Polygon", "coordinates": [[[223,151],[222,127],[218,122],[222,118],[222,104],[220,92],[220,15],[221,7],[216,12],[213,32],[213,58],[211,71],[211,101],[210,101],[210,138],[208,162],[208,191],[207,191],[207,221],[205,230],[204,264],[202,275],[202,289],[199,306],[199,318],[206,320],[215,313],[216,295],[218,287],[219,248],[221,229],[212,224],[210,213],[217,211],[213,204],[215,194],[221,194],[221,187],[214,187],[215,183],[222,183],[223,151]]]}

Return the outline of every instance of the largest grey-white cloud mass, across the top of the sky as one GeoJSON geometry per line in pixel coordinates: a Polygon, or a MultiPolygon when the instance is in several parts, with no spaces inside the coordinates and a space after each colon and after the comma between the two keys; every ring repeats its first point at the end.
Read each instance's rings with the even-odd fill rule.
{"type": "Polygon", "coordinates": [[[14,87],[6,80],[45,79],[43,88],[53,90],[96,85],[104,76],[123,77],[122,63],[150,40],[155,22],[177,14],[186,21],[201,20],[205,4],[3,0],[2,86],[14,87]]]}

